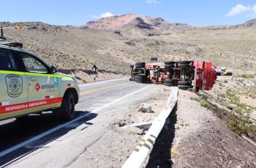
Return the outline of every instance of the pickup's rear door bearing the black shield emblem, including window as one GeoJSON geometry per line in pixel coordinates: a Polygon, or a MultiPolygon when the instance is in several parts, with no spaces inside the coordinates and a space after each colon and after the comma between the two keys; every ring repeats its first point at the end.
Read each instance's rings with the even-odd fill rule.
{"type": "Polygon", "coordinates": [[[0,120],[28,113],[28,80],[13,52],[0,49],[0,120]]]}

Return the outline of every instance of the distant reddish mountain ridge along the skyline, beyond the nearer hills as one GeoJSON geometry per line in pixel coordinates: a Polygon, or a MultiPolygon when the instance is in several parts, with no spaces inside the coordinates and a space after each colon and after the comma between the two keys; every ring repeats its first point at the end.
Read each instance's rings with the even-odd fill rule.
{"type": "MultiPolygon", "coordinates": [[[[141,29],[153,30],[154,28],[161,30],[170,30],[170,29],[182,29],[191,30],[191,29],[209,29],[209,27],[226,27],[227,29],[233,29],[237,27],[250,27],[256,26],[256,19],[251,19],[242,24],[237,25],[209,25],[209,26],[191,26],[186,23],[176,23],[168,22],[161,17],[150,17],[139,14],[122,14],[115,15],[105,18],[99,18],[97,20],[88,21],[83,25],[75,25],[73,27],[78,27],[81,29],[98,29],[105,31],[114,31],[119,29],[125,29],[125,27],[138,27],[141,29]],[[137,23],[136,23],[137,22],[137,23]]],[[[225,29],[225,28],[224,28],[225,29]]]]}

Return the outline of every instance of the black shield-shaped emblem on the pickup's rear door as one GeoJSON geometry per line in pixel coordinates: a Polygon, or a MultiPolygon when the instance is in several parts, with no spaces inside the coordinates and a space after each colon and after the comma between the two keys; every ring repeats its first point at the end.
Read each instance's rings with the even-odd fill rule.
{"type": "Polygon", "coordinates": [[[22,77],[15,74],[10,74],[5,77],[10,97],[18,97],[22,94],[23,80],[22,77]]]}

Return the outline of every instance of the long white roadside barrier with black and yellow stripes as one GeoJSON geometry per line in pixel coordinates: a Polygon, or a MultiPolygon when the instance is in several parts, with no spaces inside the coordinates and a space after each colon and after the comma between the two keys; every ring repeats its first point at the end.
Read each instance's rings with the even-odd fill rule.
{"type": "Polygon", "coordinates": [[[161,132],[166,118],[173,110],[178,100],[178,88],[173,87],[172,92],[167,100],[165,107],[162,109],[158,117],[153,120],[152,126],[148,129],[147,133],[143,136],[135,150],[130,157],[125,161],[122,168],[136,168],[140,167],[147,156],[148,151],[153,148],[157,136],[161,132]]]}

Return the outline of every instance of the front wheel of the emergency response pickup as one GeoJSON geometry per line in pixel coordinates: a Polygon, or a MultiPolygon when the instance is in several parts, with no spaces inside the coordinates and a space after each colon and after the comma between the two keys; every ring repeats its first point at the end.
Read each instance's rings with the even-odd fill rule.
{"type": "Polygon", "coordinates": [[[71,92],[67,92],[61,103],[61,113],[65,120],[72,120],[75,116],[75,100],[71,92]]]}

